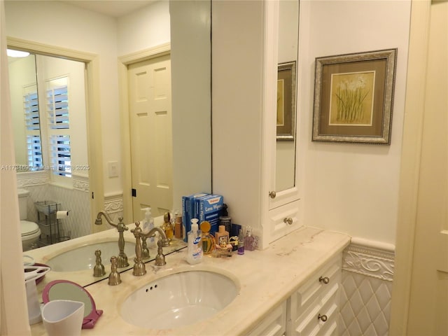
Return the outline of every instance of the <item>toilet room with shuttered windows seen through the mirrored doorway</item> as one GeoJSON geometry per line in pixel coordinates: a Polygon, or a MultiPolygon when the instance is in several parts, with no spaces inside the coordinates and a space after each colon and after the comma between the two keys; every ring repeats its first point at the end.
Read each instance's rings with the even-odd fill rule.
{"type": "Polygon", "coordinates": [[[78,225],[90,221],[88,190],[77,187],[89,178],[85,64],[38,54],[8,62],[18,180],[32,172],[21,220],[41,230],[33,247],[88,235],[90,225],[78,225]],[[55,218],[62,210],[70,216],[55,218]]]}

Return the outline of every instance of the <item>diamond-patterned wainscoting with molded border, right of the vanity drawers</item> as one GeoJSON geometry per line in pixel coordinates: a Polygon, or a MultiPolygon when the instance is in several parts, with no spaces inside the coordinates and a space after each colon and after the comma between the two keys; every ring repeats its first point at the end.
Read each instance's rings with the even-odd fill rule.
{"type": "Polygon", "coordinates": [[[393,246],[352,244],[342,260],[341,336],[387,336],[393,281],[393,246]]]}

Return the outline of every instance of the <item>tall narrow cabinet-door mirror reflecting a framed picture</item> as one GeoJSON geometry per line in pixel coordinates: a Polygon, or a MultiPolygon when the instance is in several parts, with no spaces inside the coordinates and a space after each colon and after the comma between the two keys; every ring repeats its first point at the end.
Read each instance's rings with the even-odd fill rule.
{"type": "Polygon", "coordinates": [[[298,34],[299,0],[279,1],[276,192],[295,186],[298,34]]]}

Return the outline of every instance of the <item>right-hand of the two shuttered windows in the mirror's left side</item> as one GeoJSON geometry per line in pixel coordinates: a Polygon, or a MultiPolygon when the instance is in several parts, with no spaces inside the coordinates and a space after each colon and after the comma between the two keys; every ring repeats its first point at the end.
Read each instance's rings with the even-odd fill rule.
{"type": "Polygon", "coordinates": [[[52,174],[71,177],[68,77],[47,80],[48,154],[52,174]]]}

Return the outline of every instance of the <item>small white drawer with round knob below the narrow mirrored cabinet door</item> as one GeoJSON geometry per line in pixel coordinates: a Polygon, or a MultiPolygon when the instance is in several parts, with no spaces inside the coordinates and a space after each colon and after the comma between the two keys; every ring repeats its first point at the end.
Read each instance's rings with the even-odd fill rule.
{"type": "Polygon", "coordinates": [[[299,200],[269,211],[269,242],[299,228],[299,200]]]}

